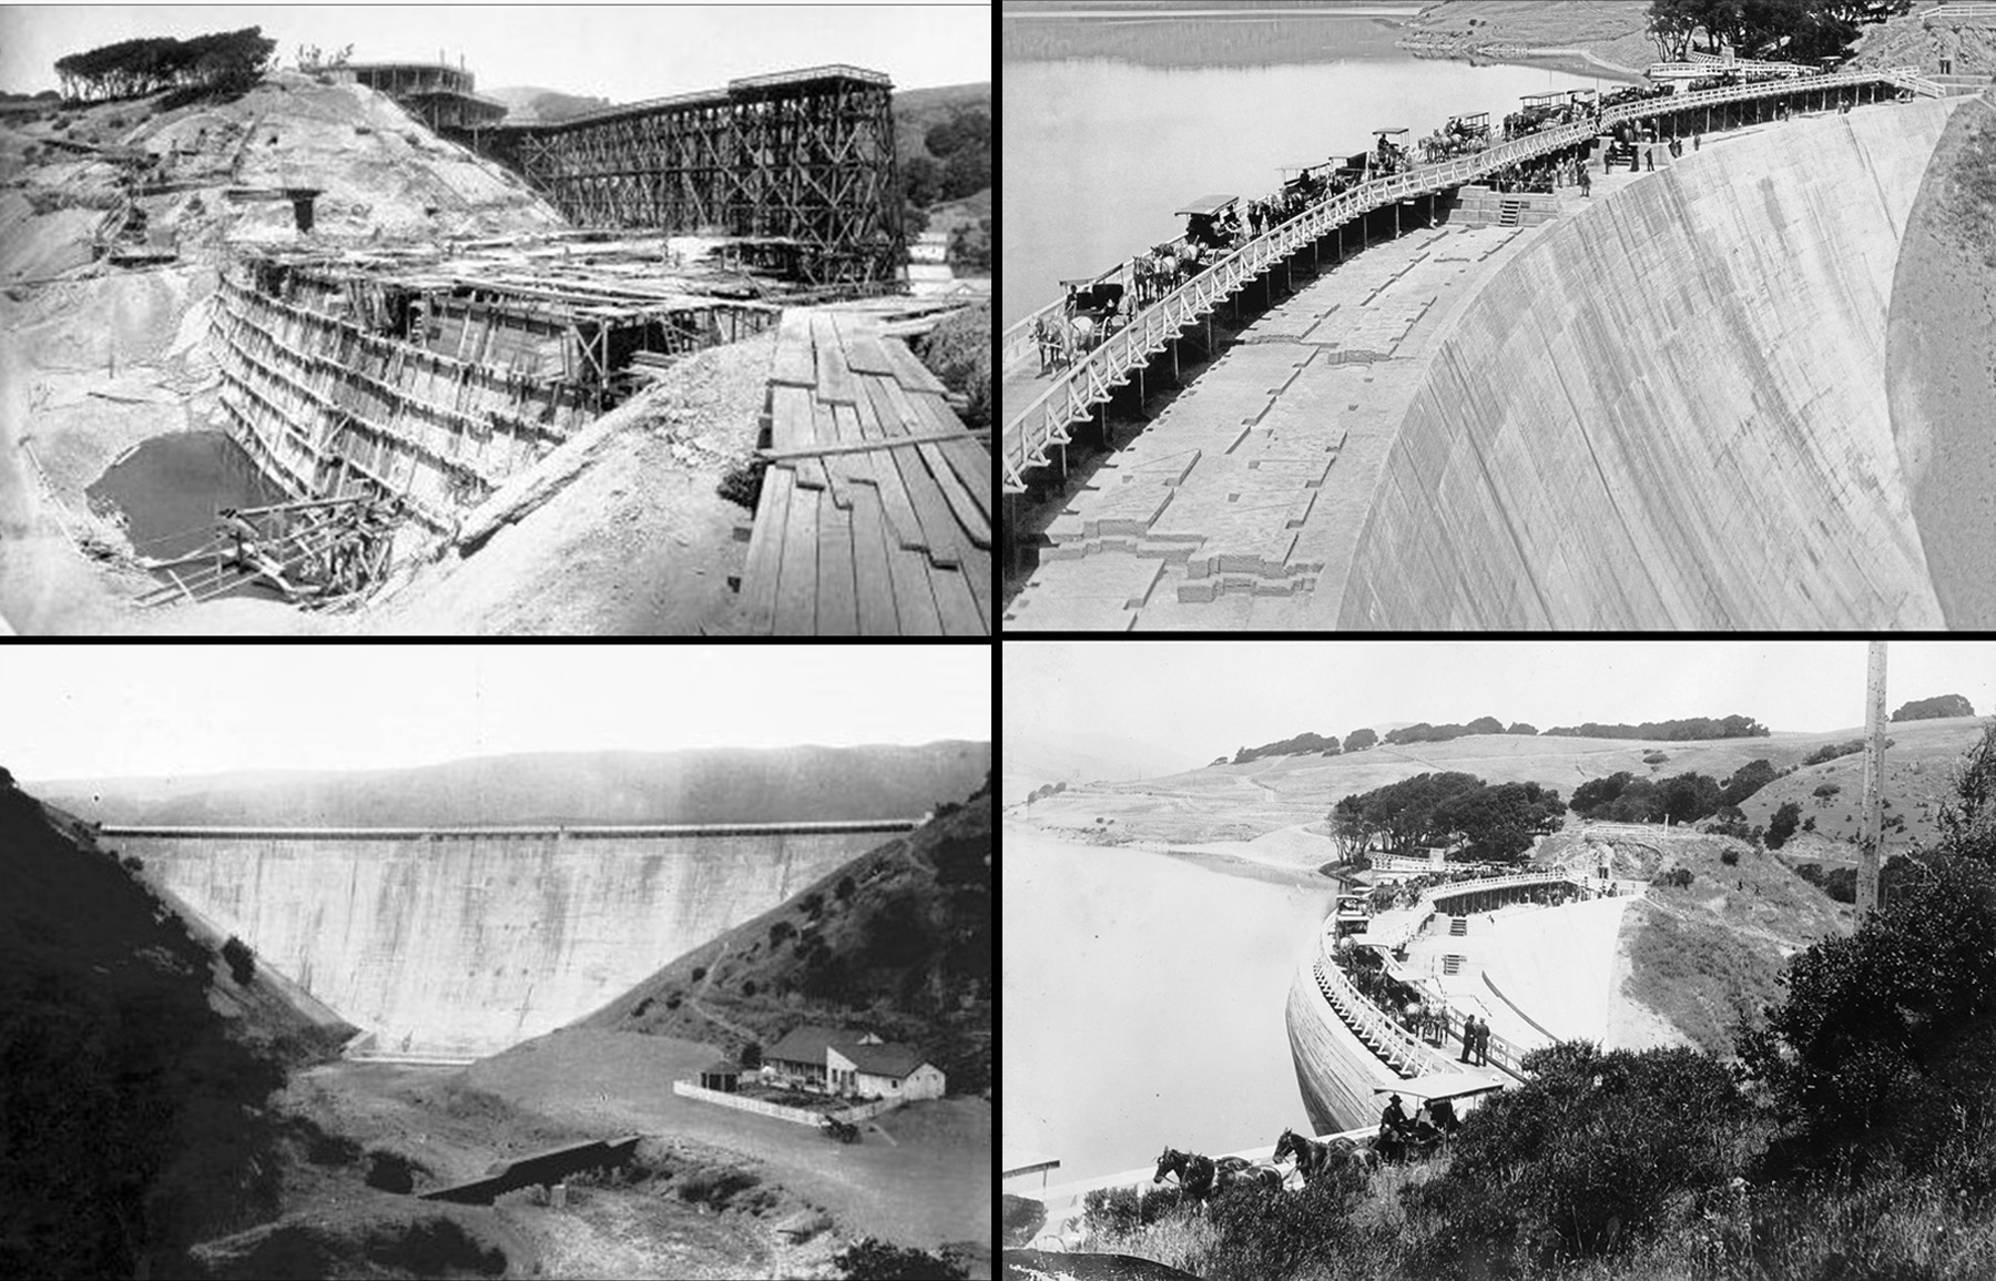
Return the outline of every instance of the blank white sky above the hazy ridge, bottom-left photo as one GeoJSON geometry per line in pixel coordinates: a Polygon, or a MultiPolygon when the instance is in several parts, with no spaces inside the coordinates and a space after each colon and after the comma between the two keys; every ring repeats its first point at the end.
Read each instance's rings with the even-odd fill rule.
{"type": "Polygon", "coordinates": [[[0,766],[28,782],[988,742],[990,696],[982,644],[10,644],[0,766]]]}

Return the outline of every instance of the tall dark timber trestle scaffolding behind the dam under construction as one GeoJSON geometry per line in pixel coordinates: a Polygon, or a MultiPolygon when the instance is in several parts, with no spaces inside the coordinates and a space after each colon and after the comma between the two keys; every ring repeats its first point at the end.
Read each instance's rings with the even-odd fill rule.
{"type": "Polygon", "coordinates": [[[894,281],[892,82],[822,66],[481,134],[569,221],[792,239],[810,285],[894,281]]]}

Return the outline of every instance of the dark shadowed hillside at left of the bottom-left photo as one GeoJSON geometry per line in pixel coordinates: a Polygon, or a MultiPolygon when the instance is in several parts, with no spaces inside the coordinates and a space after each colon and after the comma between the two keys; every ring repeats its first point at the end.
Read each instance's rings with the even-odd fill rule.
{"type": "Polygon", "coordinates": [[[0,770],[0,1275],[188,1275],[277,1207],[287,1066],[337,1046],[0,770]],[[238,1018],[226,1018],[230,1010],[238,1018]]]}

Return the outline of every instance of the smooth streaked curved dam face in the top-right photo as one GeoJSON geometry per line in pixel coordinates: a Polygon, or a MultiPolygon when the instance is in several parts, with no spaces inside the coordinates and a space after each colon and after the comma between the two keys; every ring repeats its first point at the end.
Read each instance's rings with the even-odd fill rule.
{"type": "Polygon", "coordinates": [[[1713,138],[1547,227],[1443,339],[1323,625],[1944,627],[1886,329],[1958,106],[1713,138]]]}

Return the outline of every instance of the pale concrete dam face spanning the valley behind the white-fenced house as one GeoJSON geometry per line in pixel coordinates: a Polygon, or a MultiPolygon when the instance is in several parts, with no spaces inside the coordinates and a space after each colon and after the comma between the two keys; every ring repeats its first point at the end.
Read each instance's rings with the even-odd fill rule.
{"type": "Polygon", "coordinates": [[[355,1052],[479,1058],[589,1014],[914,826],[108,826],[102,838],[369,1034],[355,1052]]]}

